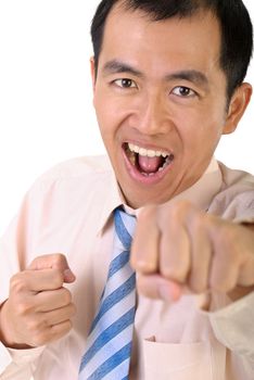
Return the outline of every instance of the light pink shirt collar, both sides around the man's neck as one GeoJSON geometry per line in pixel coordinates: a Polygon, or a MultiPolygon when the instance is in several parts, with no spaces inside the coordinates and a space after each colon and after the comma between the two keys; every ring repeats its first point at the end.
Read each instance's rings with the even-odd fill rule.
{"type": "MultiPolygon", "coordinates": [[[[193,186],[177,194],[168,202],[188,200],[199,208],[207,211],[213,198],[221,189],[221,173],[217,161],[213,157],[203,176],[193,186]]],[[[123,206],[130,215],[138,215],[139,212],[139,210],[134,210],[126,204],[126,200],[119,189],[113,168],[111,168],[110,175],[107,173],[103,187],[106,189],[106,194],[103,200],[104,205],[102,210],[100,210],[101,217],[98,225],[98,233],[103,233],[103,230],[106,228],[110,217],[116,207],[123,206]]]]}

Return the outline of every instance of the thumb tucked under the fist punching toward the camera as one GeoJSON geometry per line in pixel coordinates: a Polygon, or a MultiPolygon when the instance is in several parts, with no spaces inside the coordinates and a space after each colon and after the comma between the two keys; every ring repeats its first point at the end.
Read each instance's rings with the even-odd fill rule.
{"type": "Polygon", "coordinates": [[[163,278],[160,275],[141,275],[137,276],[138,291],[149,297],[158,299],[167,302],[177,301],[181,296],[182,287],[163,278]]]}

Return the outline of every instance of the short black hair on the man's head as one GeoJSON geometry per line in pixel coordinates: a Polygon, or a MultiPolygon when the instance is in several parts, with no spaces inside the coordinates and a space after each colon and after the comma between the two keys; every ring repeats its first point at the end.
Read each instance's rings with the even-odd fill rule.
{"type": "Polygon", "coordinates": [[[220,24],[220,67],[227,77],[228,100],[231,99],[246,75],[253,50],[253,26],[241,0],[102,0],[91,24],[96,75],[105,22],[116,3],[127,10],[143,11],[152,21],[190,17],[200,10],[213,12],[220,24]]]}

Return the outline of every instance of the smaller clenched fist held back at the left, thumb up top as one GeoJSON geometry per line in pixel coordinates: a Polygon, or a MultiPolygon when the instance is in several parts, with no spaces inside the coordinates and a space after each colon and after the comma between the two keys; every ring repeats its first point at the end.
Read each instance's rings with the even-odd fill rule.
{"type": "Polygon", "coordinates": [[[50,254],[34,259],[10,281],[9,299],[0,309],[0,338],[14,349],[35,347],[54,341],[72,328],[75,314],[64,282],[75,281],[66,258],[50,254]]]}

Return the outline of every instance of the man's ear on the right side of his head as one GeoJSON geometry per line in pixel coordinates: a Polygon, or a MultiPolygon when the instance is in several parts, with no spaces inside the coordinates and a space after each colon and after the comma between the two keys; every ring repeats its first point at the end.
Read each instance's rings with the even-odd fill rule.
{"type": "Polygon", "coordinates": [[[237,129],[238,123],[244,114],[251,97],[252,86],[250,84],[244,83],[236,89],[230,100],[223,135],[232,134],[237,129]]]}

